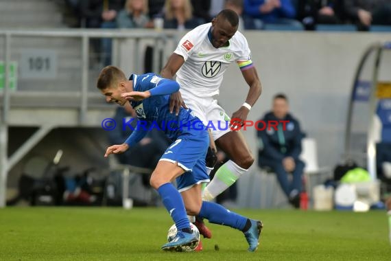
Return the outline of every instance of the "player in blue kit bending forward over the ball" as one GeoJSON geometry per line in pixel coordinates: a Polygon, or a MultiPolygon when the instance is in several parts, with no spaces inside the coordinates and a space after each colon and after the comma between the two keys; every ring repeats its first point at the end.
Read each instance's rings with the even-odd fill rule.
{"type": "Polygon", "coordinates": [[[169,113],[169,94],[178,91],[179,84],[154,73],[132,74],[128,80],[120,69],[108,66],[99,74],[97,88],[108,102],[123,106],[129,100],[139,121],[143,122],[123,144],[108,147],[105,157],[128,150],[152,127],[161,129],[174,141],[158,161],[150,179],[178,229],[176,237],[162,249],[180,251],[183,246],[196,244],[197,238],[193,236],[187,218],[187,214],[191,214],[243,231],[248,251],[257,250],[260,221],[230,212],[216,203],[202,201],[201,183],[209,182],[205,166],[209,133],[190,109],[180,109],[178,115],[169,113]],[[178,190],[171,184],[174,178],[178,190]]]}

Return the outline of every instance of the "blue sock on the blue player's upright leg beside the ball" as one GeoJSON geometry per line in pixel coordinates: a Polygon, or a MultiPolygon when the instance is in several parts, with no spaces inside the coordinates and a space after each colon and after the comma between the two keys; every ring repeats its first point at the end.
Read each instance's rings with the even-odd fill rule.
{"type": "Polygon", "coordinates": [[[165,183],[158,188],[158,193],[161,195],[163,205],[169,212],[172,220],[174,220],[176,229],[190,229],[189,218],[187,218],[185,204],[178,190],[171,183],[165,183]]]}

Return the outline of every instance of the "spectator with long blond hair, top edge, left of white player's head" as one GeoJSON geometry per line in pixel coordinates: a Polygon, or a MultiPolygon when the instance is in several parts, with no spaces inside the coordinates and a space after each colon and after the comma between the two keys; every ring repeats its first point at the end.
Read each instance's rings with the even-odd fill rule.
{"type": "Polygon", "coordinates": [[[164,27],[168,29],[192,29],[199,24],[193,19],[193,7],[190,0],[165,1],[164,27]]]}

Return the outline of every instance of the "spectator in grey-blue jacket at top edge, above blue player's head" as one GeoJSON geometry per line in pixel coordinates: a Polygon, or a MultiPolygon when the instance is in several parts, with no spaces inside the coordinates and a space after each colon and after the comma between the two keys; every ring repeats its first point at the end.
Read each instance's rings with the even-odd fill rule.
{"type": "Polygon", "coordinates": [[[150,23],[147,0],[127,0],[125,8],[119,11],[116,22],[119,28],[153,27],[150,23]]]}

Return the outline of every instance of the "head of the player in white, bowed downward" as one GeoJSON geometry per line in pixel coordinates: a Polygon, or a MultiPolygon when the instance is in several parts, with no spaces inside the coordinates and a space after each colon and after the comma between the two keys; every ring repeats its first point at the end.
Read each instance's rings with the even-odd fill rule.
{"type": "Polygon", "coordinates": [[[228,45],[239,25],[239,16],[233,10],[224,9],[212,20],[212,45],[220,48],[228,45]]]}

